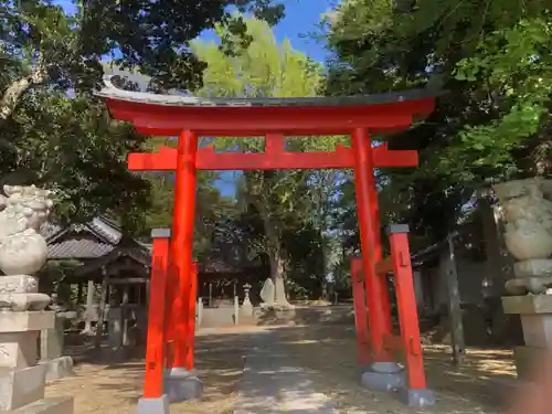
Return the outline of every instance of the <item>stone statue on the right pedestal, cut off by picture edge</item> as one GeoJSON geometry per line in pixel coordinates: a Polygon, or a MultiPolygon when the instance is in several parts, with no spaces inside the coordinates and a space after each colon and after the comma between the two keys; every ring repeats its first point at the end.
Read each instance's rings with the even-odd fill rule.
{"type": "Polygon", "coordinates": [[[514,279],[506,289],[512,295],[545,294],[552,286],[552,181],[539,178],[495,185],[502,219],[505,244],[518,261],[514,279]]]}

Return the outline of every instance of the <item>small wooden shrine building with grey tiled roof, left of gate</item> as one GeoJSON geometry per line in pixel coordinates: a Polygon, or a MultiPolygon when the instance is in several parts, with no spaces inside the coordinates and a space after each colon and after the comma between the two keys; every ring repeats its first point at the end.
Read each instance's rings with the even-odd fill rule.
{"type": "MultiPolygon", "coordinates": [[[[112,349],[144,343],[150,247],[126,235],[116,223],[102,215],[82,224],[46,224],[41,234],[47,243],[49,262],[74,261],[74,267],[66,272],[62,284],[77,286],[77,308],[74,310],[77,319],[84,319],[83,333],[96,335],[98,348],[106,331],[104,326],[112,349]],[[86,306],[83,309],[85,289],[86,306]],[[131,328],[132,339],[129,335],[131,328]]],[[[62,299],[60,295],[57,299],[62,299]]]]}

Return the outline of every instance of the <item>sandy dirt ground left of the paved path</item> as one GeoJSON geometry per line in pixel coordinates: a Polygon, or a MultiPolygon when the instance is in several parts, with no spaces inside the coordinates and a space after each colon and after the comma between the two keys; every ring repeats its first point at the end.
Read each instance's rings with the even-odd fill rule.
{"type": "MultiPolygon", "coordinates": [[[[251,335],[229,330],[200,332],[195,339],[195,368],[204,383],[203,399],[171,404],[171,413],[233,413],[251,335]]],[[[136,412],[144,386],[144,348],[124,352],[110,352],[106,348],[98,352],[93,343],[67,348],[67,353],[77,361],[76,376],[51,384],[49,395],[73,395],[76,414],[136,412]]]]}

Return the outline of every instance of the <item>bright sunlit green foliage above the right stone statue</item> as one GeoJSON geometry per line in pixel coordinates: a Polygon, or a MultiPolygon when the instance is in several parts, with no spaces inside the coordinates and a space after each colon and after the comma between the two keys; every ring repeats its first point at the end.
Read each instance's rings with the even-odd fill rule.
{"type": "MultiPolygon", "coordinates": [[[[456,78],[482,82],[497,116],[484,125],[467,125],[458,136],[461,144],[450,148],[449,159],[460,157],[468,169],[516,169],[512,151],[538,134],[549,117],[551,23],[548,13],[521,19],[512,28],[489,33],[473,56],[458,62],[456,78]]],[[[450,168],[450,162],[444,167],[450,168]]]]}

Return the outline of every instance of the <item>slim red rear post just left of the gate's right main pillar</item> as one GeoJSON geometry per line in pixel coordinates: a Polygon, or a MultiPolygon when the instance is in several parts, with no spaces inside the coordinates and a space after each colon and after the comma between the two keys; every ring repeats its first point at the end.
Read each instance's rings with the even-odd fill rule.
{"type": "Polygon", "coordinates": [[[357,346],[359,352],[359,364],[370,363],[370,333],[368,331],[367,297],[364,289],[364,273],[362,272],[362,259],[351,259],[351,285],[354,305],[354,326],[357,330],[357,346]]]}

